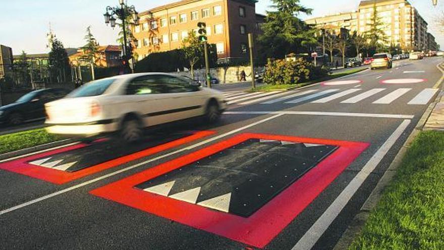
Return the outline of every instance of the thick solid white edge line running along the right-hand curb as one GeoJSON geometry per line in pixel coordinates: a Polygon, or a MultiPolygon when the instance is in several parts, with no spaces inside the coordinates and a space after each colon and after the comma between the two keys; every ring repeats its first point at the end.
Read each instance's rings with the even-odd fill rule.
{"type": "Polygon", "coordinates": [[[410,120],[404,120],[398,126],[393,134],[388,137],[384,144],[382,144],[378,151],[376,151],[376,153],[370,158],[367,164],[365,164],[361,171],[359,171],[355,178],[353,178],[353,180],[344,188],[335,201],[331,203],[310,229],[305,232],[302,238],[299,239],[298,243],[293,246],[292,250],[309,250],[314,246],[321,235],[327,230],[328,226],[330,226],[331,222],[333,222],[339,213],[341,213],[362,183],[367,179],[370,173],[374,171],[382,158],[403,134],[410,122],[410,120]]]}

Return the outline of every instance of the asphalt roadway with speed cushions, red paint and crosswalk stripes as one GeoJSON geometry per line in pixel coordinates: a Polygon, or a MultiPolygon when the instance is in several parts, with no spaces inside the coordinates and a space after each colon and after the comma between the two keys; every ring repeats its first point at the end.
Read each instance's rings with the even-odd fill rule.
{"type": "Polygon", "coordinates": [[[438,94],[441,62],[225,90],[216,125],[1,160],[0,248],[332,249],[438,94]]]}

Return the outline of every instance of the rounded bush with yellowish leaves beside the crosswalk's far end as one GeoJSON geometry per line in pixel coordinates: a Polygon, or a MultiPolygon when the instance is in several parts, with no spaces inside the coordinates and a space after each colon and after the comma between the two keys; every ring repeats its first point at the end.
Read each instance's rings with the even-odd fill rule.
{"type": "Polygon", "coordinates": [[[310,77],[310,63],[302,58],[295,61],[268,59],[264,82],[271,85],[296,84],[310,77]]]}

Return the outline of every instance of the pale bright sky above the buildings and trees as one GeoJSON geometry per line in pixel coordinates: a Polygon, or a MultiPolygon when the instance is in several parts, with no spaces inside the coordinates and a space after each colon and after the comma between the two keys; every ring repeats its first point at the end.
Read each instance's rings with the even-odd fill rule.
{"type": "MultiPolygon", "coordinates": [[[[138,12],[160,4],[177,0],[128,0],[138,12]]],[[[313,9],[311,17],[356,10],[359,0],[300,0],[300,3],[313,9]]],[[[435,20],[444,10],[444,0],[438,0],[433,7],[431,0],[409,0],[429,24],[428,29],[438,43],[444,47],[444,33],[440,33],[435,20]]],[[[46,33],[49,23],[55,35],[65,47],[79,47],[84,44],[86,27],[91,25],[92,33],[101,45],[117,44],[117,29],[113,30],[103,22],[106,6],[117,6],[118,0],[0,0],[0,44],[13,48],[14,54],[25,51],[27,54],[47,53],[46,33]],[[2,3],[3,2],[3,3],[2,3]]],[[[256,12],[265,14],[271,0],[259,0],[256,12]]],[[[308,16],[300,16],[307,19],[308,16]]],[[[442,27],[441,27],[442,28],[442,27]]]]}

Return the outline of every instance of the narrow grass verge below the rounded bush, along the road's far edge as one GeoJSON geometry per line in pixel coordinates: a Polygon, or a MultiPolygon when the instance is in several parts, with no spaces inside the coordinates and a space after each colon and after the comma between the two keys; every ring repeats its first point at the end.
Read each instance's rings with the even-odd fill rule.
{"type": "Polygon", "coordinates": [[[351,69],[351,70],[347,70],[347,71],[343,71],[343,72],[338,72],[338,73],[333,73],[327,76],[324,76],[322,78],[316,79],[316,80],[312,80],[312,81],[307,81],[307,82],[301,82],[301,83],[296,83],[296,84],[282,84],[282,85],[262,85],[256,88],[252,88],[250,89],[250,92],[256,92],[256,91],[275,91],[275,90],[290,90],[290,89],[295,89],[295,88],[300,88],[300,87],[304,87],[307,85],[311,85],[317,82],[323,82],[323,81],[328,81],[331,79],[335,79],[335,78],[339,78],[339,77],[344,77],[347,75],[351,75],[351,74],[355,74],[358,73],[360,71],[366,70],[367,68],[359,68],[359,69],[351,69]]]}

